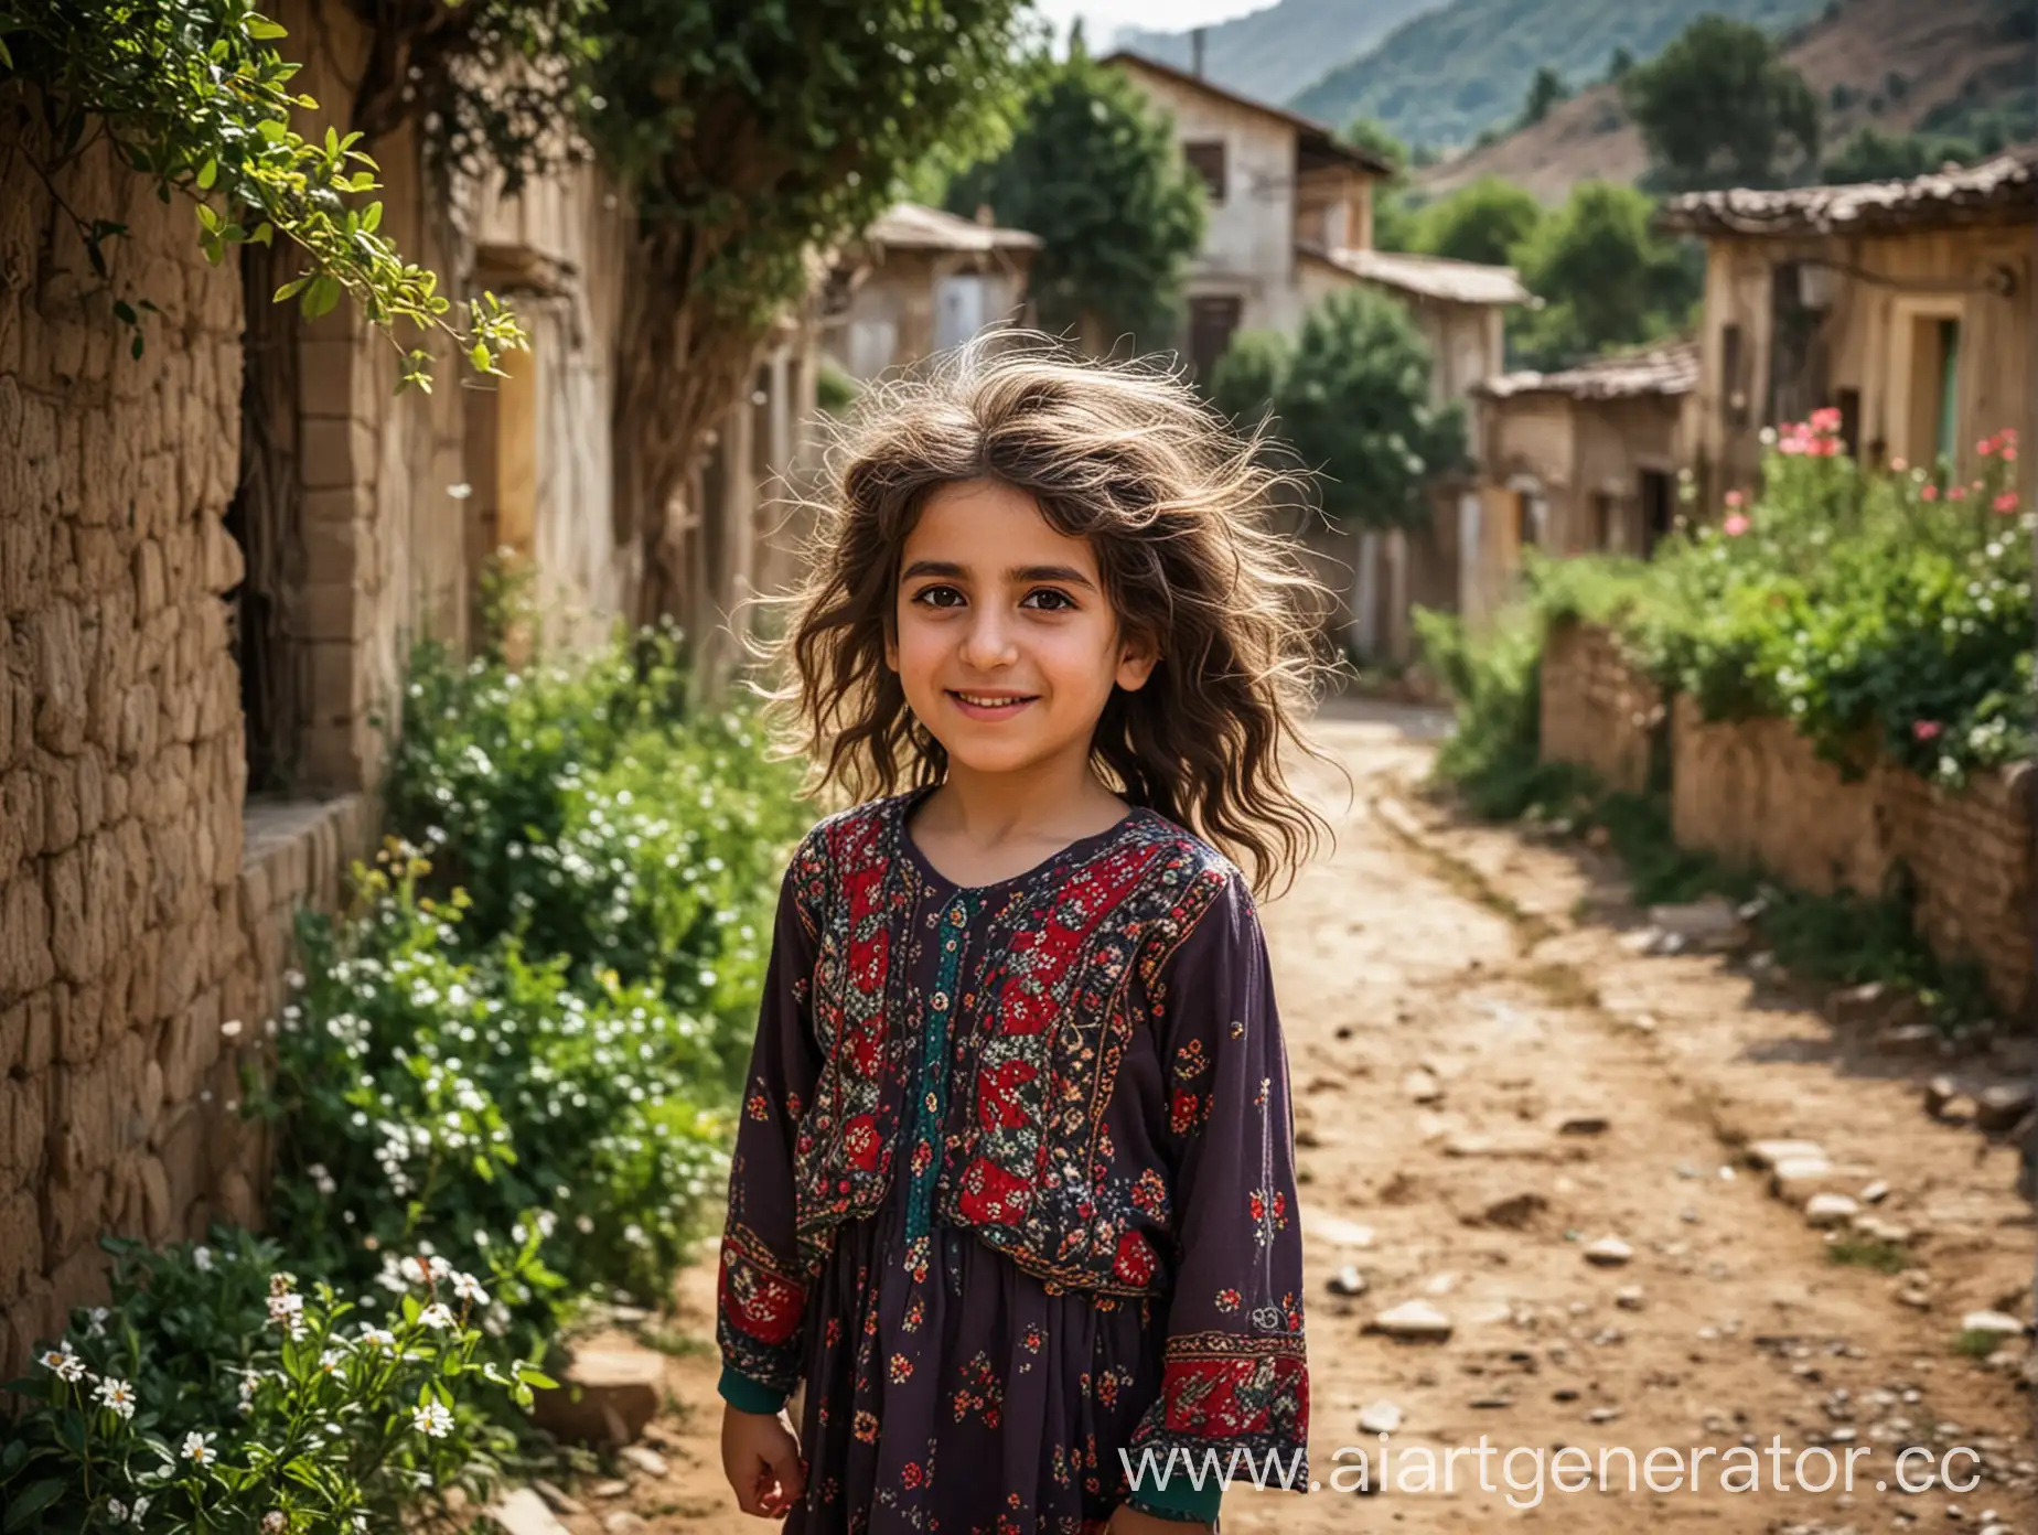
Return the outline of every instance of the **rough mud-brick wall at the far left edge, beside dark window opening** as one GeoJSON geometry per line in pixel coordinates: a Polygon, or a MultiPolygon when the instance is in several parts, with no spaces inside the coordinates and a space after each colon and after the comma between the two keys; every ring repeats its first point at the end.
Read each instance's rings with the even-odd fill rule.
{"type": "Polygon", "coordinates": [[[257,1217],[271,932],[365,838],[320,807],[332,856],[265,838],[243,870],[238,273],[106,153],[59,192],[128,234],[102,279],[26,165],[0,179],[0,1378],[104,1296],[102,1233],[257,1217]],[[161,310],[141,361],[116,298],[161,310]]]}

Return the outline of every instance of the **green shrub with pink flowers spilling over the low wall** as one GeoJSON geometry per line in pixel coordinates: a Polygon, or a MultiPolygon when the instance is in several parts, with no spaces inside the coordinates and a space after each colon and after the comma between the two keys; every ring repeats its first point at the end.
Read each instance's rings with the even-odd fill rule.
{"type": "Polygon", "coordinates": [[[1539,567],[1545,616],[1614,628],[1659,685],[1708,718],[1773,713],[1820,752],[1959,783],[2030,754],[2032,540],[2018,516],[2016,432],[1977,444],[1971,481],[1901,461],[1859,469],[1838,414],[1773,434],[1763,493],[1728,493],[1641,565],[1539,567]]]}

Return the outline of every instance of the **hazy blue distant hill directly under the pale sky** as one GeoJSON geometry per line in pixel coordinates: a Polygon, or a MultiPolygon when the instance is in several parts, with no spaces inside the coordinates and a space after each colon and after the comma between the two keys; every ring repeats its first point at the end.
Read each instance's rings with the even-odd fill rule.
{"type": "MultiPolygon", "coordinates": [[[[1402,22],[1441,4],[1447,0],[1280,0],[1204,29],[1202,69],[1227,90],[1280,104],[1329,65],[1359,57],[1402,22]]],[[[1188,69],[1188,37],[1121,27],[1113,47],[1188,69]]]]}

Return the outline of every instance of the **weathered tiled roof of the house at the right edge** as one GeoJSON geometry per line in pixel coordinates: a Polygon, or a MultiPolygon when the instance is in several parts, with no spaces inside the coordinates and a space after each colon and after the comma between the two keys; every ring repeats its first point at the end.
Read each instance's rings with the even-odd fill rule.
{"type": "Polygon", "coordinates": [[[1690,192],[1657,212],[1661,228],[1690,234],[1867,234],[1948,224],[2028,224],[2034,218],[2038,147],[2032,145],[1910,181],[1690,192]]]}

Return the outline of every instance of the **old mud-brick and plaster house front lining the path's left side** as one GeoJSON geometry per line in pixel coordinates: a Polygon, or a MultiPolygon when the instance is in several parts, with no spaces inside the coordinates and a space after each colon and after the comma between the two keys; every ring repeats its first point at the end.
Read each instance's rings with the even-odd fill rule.
{"type": "MultiPolygon", "coordinates": [[[[293,90],[353,102],[355,12],[277,18],[293,90]]],[[[412,126],[371,147],[383,232],[530,328],[507,379],[463,381],[438,345],[440,387],[395,395],[395,349],[351,306],[273,304],[291,271],[265,247],[208,265],[190,206],[104,141],[53,186],[20,155],[0,171],[0,1378],[104,1299],[102,1233],[257,1215],[240,1066],[293,907],[373,842],[410,642],[469,640],[497,546],[560,644],[634,605],[607,430],[628,210],[585,165],[505,200],[448,181],[412,126]],[[108,275],[59,198],[126,224],[108,275]],[[141,359],[122,298],[159,308],[141,359]]],[[[764,563],[758,485],[799,459],[811,351],[791,316],[732,402],[681,526],[697,614],[764,563]]]]}

